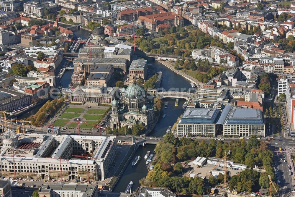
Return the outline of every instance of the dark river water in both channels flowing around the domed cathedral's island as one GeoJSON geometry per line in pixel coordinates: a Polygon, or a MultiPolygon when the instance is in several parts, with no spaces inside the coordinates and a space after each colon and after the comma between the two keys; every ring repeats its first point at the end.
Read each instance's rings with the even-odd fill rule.
{"type": "MultiPolygon", "coordinates": [[[[62,25],[66,26],[66,25],[62,25]]],[[[79,36],[82,39],[86,39],[89,35],[89,32],[83,29],[73,29],[73,33],[77,36],[79,36]]],[[[62,64],[63,65],[63,62],[62,64]]],[[[70,64],[71,66],[72,64],[70,64]]],[[[181,75],[176,74],[169,68],[165,67],[160,62],[155,61],[153,58],[148,58],[148,66],[149,70],[153,72],[162,71],[163,77],[162,82],[160,84],[160,87],[164,89],[164,91],[189,91],[189,88],[191,88],[190,81],[186,80],[181,75]],[[173,88],[171,90],[171,88],[173,88]],[[182,89],[181,89],[182,88],[182,89]]],[[[70,83],[71,75],[73,73],[73,70],[66,71],[61,78],[61,83],[63,88],[68,88],[68,84],[70,83]]],[[[176,99],[163,99],[163,103],[168,102],[168,108],[167,109],[161,109],[160,112],[160,118],[155,125],[155,128],[150,133],[151,136],[163,136],[166,133],[166,129],[176,122],[177,118],[182,114],[183,109],[182,105],[186,101],[185,99],[179,99],[178,107],[175,106],[175,100],[176,99]],[[163,118],[163,114],[166,114],[165,118],[163,118]]],[[[42,105],[41,105],[42,106],[42,105]]],[[[32,109],[30,112],[27,112],[25,114],[22,114],[19,116],[20,119],[24,119],[29,117],[32,114],[35,114],[40,107],[37,107],[35,109],[32,109]]],[[[114,190],[115,192],[124,192],[128,183],[130,181],[133,181],[133,187],[132,191],[136,190],[139,186],[139,180],[143,177],[145,177],[148,174],[148,170],[145,165],[145,159],[144,156],[147,151],[153,152],[155,148],[155,145],[146,145],[145,147],[140,147],[136,151],[133,159],[135,156],[140,155],[141,160],[137,164],[137,166],[132,167],[131,163],[128,165],[127,169],[125,169],[122,177],[120,178],[119,182],[115,186],[114,190]]],[[[132,159],[132,160],[133,160],[132,159]]]]}

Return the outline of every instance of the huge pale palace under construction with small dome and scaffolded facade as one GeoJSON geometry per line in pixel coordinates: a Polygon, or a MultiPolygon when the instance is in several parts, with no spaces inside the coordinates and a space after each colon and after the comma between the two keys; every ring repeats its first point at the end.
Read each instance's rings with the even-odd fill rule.
{"type": "Polygon", "coordinates": [[[7,130],[1,148],[0,176],[104,180],[116,153],[113,136],[17,134],[7,130]]]}

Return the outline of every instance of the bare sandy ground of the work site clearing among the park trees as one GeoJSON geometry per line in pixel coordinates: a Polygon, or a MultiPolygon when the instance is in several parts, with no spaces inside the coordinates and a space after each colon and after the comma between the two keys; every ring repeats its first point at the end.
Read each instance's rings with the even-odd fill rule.
{"type": "MultiPolygon", "coordinates": [[[[186,174],[184,174],[184,176],[188,175],[191,172],[195,174],[195,176],[208,178],[211,175],[212,169],[214,168],[213,164],[205,164],[202,167],[197,167],[196,165],[193,164],[193,161],[189,162],[188,165],[190,165],[189,167],[191,167],[192,169],[186,174]]],[[[224,170],[224,167],[217,166],[214,169],[224,170]]],[[[227,172],[230,172],[231,176],[236,175],[237,173],[241,171],[243,170],[242,169],[235,170],[229,167],[227,168],[227,172]]]]}

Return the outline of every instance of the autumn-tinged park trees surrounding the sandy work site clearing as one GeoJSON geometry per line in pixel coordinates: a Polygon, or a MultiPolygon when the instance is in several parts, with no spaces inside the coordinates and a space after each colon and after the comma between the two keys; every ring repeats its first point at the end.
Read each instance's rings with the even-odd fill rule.
{"type": "MultiPolygon", "coordinates": [[[[228,176],[230,190],[256,192],[260,188],[269,188],[268,175],[273,180],[276,177],[272,168],[273,153],[268,150],[266,142],[250,138],[248,142],[240,139],[227,143],[212,139],[206,143],[204,140],[175,138],[173,133],[167,133],[163,142],[157,144],[155,148],[157,158],[152,162],[154,169],[140,180],[140,184],[142,186],[168,187],[173,192],[181,194],[203,194],[205,185],[215,187],[217,184],[223,184],[224,175],[220,173],[217,177],[212,176],[208,179],[182,177],[181,173],[189,169],[183,168],[180,162],[193,161],[197,156],[222,158],[224,151],[228,152],[229,150],[228,160],[250,167],[237,175],[228,176]],[[254,165],[264,168],[265,172],[253,170],[254,165]]],[[[277,185],[276,187],[278,188],[277,185]]]]}

